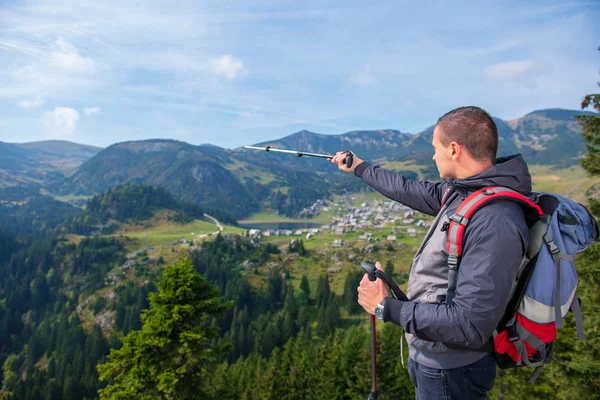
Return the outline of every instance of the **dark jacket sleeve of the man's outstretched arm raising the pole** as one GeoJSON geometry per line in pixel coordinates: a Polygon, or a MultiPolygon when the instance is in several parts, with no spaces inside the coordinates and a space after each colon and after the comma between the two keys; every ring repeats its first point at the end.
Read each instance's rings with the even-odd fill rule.
{"type": "Polygon", "coordinates": [[[437,215],[447,183],[430,183],[403,177],[367,162],[359,164],[354,174],[389,199],[428,215],[437,215]]]}

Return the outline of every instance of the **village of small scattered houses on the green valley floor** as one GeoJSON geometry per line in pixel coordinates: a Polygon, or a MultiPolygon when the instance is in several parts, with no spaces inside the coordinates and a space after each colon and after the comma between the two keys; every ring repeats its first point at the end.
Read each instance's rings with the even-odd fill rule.
{"type": "MultiPolygon", "coordinates": [[[[319,228],[250,229],[248,235],[254,238],[304,236],[306,240],[311,240],[316,235],[324,233],[342,236],[350,232],[361,232],[358,240],[370,242],[378,240],[373,238],[373,233],[370,231],[391,228],[391,234],[386,236],[386,240],[394,242],[399,235],[416,237],[418,228],[430,225],[424,214],[391,200],[373,199],[370,202],[362,202],[358,206],[355,205],[355,202],[356,197],[335,202],[319,199],[310,207],[302,210],[300,216],[308,218],[314,218],[320,213],[334,213],[332,221],[319,228]]],[[[344,242],[342,239],[335,239],[333,245],[343,246],[344,242]]]]}

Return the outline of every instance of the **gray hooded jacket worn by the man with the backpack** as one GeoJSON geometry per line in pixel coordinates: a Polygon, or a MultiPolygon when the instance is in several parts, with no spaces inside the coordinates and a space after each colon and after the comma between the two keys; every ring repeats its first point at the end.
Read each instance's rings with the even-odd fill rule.
{"type": "Polygon", "coordinates": [[[436,216],[410,270],[407,296],[411,301],[386,299],[384,321],[404,328],[409,355],[420,364],[449,369],[479,360],[485,353],[474,349],[490,339],[502,318],[525,255],[528,229],[523,210],[500,200],[474,214],[465,229],[456,296],[450,304],[445,303],[448,253],[443,227],[460,203],[482,187],[499,185],[529,194],[531,176],[523,158],[498,159],[478,175],[441,183],[406,179],[368,163],[357,166],[354,173],[384,196],[436,216]],[[452,194],[442,208],[449,186],[452,194]]]}

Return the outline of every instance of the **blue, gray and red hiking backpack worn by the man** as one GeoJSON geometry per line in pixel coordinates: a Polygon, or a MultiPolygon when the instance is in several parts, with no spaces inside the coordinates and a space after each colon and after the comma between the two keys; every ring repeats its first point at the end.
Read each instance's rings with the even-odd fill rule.
{"type": "Polygon", "coordinates": [[[477,210],[498,199],[523,206],[529,244],[506,311],[494,331],[494,357],[500,368],[535,367],[533,382],[542,366],[552,361],[557,328],[562,328],[562,319],[569,311],[575,317],[578,339],[585,339],[576,292],[575,254],[598,239],[598,224],[583,205],[553,193],[526,197],[500,186],[472,193],[450,217],[447,303],[456,294],[465,227],[477,210]]]}

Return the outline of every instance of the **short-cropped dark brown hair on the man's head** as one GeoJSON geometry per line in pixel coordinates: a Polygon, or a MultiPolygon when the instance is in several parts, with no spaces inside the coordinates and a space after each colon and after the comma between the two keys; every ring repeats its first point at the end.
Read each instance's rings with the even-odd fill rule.
{"type": "Polygon", "coordinates": [[[494,162],[498,151],[498,128],[492,117],[474,106],[459,107],[438,119],[440,142],[448,146],[456,142],[476,160],[494,162]]]}

